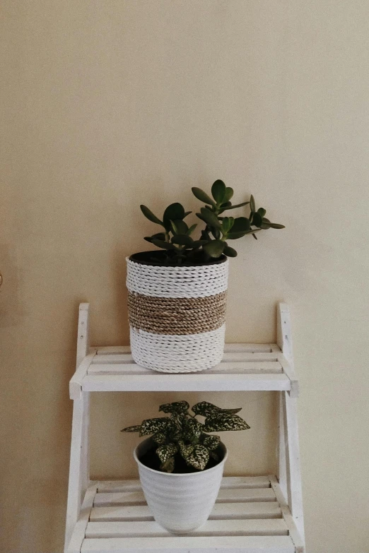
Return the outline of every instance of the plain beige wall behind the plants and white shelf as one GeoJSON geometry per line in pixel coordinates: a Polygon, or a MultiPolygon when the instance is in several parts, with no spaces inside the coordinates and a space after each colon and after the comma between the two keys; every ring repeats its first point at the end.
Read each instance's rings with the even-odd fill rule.
{"type": "MultiPolygon", "coordinates": [[[[62,549],[78,302],[93,343],[127,343],[139,203],[194,209],[217,178],[286,224],[238,242],[228,340],[273,340],[291,305],[308,552],[367,550],[368,2],[1,0],[0,18],[1,552],[62,549]]],[[[94,398],[94,475],[134,475],[119,430],[175,397],[94,398]]],[[[274,470],[274,396],[209,398],[252,426],[225,436],[228,473],[274,470]]]]}

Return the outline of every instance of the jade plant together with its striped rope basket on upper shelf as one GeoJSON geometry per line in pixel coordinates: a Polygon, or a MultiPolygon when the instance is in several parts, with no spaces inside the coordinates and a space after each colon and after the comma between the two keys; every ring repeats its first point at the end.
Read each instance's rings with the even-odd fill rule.
{"type": "Polygon", "coordinates": [[[131,353],[143,367],[163,372],[194,372],[221,362],[225,335],[228,257],[237,252],[228,242],[269,228],[284,228],[266,219],[266,210],[250,201],[233,205],[233,189],[216,180],[210,197],[192,188],[204,202],[197,217],[204,223],[199,239],[188,226],[190,211],[172,203],[160,220],[146,206],[141,211],[162,230],[146,241],[159,250],[127,258],[131,353]],[[228,211],[249,206],[248,217],[228,211]]]}

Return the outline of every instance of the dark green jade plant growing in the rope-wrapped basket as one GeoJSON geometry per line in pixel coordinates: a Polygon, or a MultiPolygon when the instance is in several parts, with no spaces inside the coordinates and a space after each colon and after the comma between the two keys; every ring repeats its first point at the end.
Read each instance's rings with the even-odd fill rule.
{"type": "Polygon", "coordinates": [[[151,222],[163,227],[163,230],[145,237],[147,242],[162,249],[160,258],[153,255],[153,261],[180,265],[182,263],[206,263],[221,256],[235,257],[237,251],[228,244],[228,240],[242,238],[247,234],[257,239],[256,233],[270,228],[283,229],[283,225],[271,222],[265,217],[264,208],[256,208],[254,196],[250,201],[233,204],[233,189],[225,186],[220,179],[211,186],[211,196],[200,188],[192,188],[192,193],[205,205],[200,208],[197,217],[205,227],[201,229],[199,239],[194,239],[192,233],[197,224],[188,226],[185,222],[191,211],[185,211],[181,203],[171,203],[165,209],[160,220],[146,206],[141,205],[141,211],[151,222]],[[248,217],[229,217],[228,211],[243,206],[249,206],[248,217]]]}

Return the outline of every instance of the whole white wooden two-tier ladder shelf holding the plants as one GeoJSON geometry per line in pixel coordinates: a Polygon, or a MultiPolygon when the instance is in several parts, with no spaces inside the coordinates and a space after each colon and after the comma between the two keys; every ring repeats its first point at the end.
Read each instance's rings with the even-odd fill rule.
{"type": "Polygon", "coordinates": [[[90,347],[88,304],[78,320],[65,553],[304,553],[297,406],[291,323],[279,304],[276,344],[227,344],[213,369],[165,374],[134,363],[129,347],[90,347]],[[277,475],[224,477],[201,528],[174,536],[153,520],[139,480],[90,481],[90,392],[276,391],[279,393],[277,475]]]}

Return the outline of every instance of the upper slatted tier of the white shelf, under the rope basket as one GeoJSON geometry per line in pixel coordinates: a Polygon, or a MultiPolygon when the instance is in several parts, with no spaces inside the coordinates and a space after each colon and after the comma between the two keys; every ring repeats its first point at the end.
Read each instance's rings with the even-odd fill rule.
{"type": "Polygon", "coordinates": [[[169,374],[134,362],[129,346],[92,347],[71,379],[82,391],[288,391],[298,395],[295,373],[276,344],[226,344],[223,360],[205,371],[169,374]]]}

